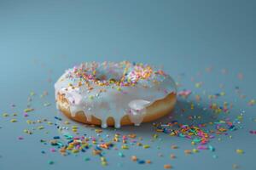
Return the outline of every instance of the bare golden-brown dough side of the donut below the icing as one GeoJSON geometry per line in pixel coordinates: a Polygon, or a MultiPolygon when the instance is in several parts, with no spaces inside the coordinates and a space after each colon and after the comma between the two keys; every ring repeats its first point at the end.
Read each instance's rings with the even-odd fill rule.
{"type": "MultiPolygon", "coordinates": [[[[177,98],[176,98],[176,94],[174,93],[167,94],[164,99],[159,99],[154,101],[153,104],[148,105],[148,107],[146,108],[146,116],[144,116],[143,122],[152,122],[162,116],[166,116],[168,113],[170,113],[173,110],[174,105],[176,104],[176,101],[177,101],[177,98]]],[[[84,116],[83,111],[79,111],[76,113],[75,116],[72,116],[69,110],[69,104],[67,102],[67,99],[65,98],[65,96],[61,94],[58,94],[58,98],[56,102],[59,107],[59,110],[65,116],[67,116],[70,119],[73,119],[76,122],[82,122],[82,123],[93,124],[93,125],[102,124],[102,121],[96,118],[95,116],[92,116],[91,121],[88,122],[86,119],[86,116],[84,116]]],[[[114,125],[113,117],[108,117],[107,123],[108,123],[108,126],[113,126],[114,125]]],[[[131,125],[133,123],[131,122],[129,116],[124,116],[121,119],[120,124],[121,126],[124,126],[124,125],[131,125]]]]}

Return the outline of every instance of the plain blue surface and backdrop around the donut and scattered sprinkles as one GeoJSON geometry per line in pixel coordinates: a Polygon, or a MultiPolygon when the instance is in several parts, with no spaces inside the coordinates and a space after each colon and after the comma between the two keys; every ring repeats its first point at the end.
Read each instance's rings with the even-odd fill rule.
{"type": "MultiPolygon", "coordinates": [[[[18,114],[15,123],[9,122],[15,116],[0,117],[0,169],[161,169],[169,163],[175,169],[232,169],[235,165],[239,169],[255,169],[256,135],[249,133],[256,130],[255,105],[247,105],[256,96],[255,7],[255,1],[237,0],[0,1],[0,112],[18,114]],[[108,128],[103,130],[102,137],[117,132],[137,133],[143,138],[142,143],[151,147],[145,150],[131,146],[122,150],[125,157],[120,157],[118,144],[119,150],[106,151],[107,167],[102,167],[100,158],[90,151],[77,156],[50,153],[51,146],[39,140],[61,135],[54,125],[44,123],[44,130],[36,129],[32,135],[23,133],[25,128],[40,126],[27,125],[26,119],[47,118],[56,122],[54,116],[61,116],[55,110],[53,84],[67,68],[82,61],[124,59],[163,65],[183,85],[179,90],[192,90],[189,99],[179,98],[172,113],[174,118],[164,117],[157,122],[177,119],[191,123],[189,115],[201,115],[202,122],[215,122],[218,118],[204,110],[210,102],[207,96],[224,91],[226,95],[215,101],[233,103],[227,116],[235,120],[242,113],[241,129],[212,139],[210,144],[215,152],[202,150],[185,156],[183,150],[195,148],[189,139],[159,133],[159,138],[151,141],[155,133],[151,123],[118,130],[108,128]],[[209,67],[212,71],[206,71],[209,67]],[[228,72],[222,73],[223,69],[228,72]],[[239,73],[244,75],[243,79],[237,78],[239,73]],[[201,88],[195,88],[195,82],[203,82],[201,88]],[[236,94],[236,87],[246,95],[245,99],[236,94]],[[49,95],[41,99],[45,90],[49,95]],[[31,91],[36,93],[31,102],[35,111],[25,118],[22,114],[31,91]],[[195,94],[202,98],[198,105],[195,94]],[[44,107],[46,101],[51,105],[44,107]],[[195,102],[192,111],[190,102],[195,102]],[[187,111],[181,116],[183,108],[187,111]],[[19,136],[24,139],[18,140],[19,136]],[[179,149],[172,150],[172,144],[179,149]],[[236,149],[245,153],[236,154],[236,149]],[[42,154],[42,150],[46,153],[42,154]],[[171,153],[177,159],[171,160],[171,153]],[[133,162],[132,155],[150,159],[152,164],[133,162]],[[218,158],[212,158],[213,155],[218,158]],[[86,156],[91,160],[84,161],[86,156]],[[51,160],[55,161],[53,165],[48,164],[51,160]]],[[[79,126],[83,133],[96,135],[92,127],[79,126]]]]}

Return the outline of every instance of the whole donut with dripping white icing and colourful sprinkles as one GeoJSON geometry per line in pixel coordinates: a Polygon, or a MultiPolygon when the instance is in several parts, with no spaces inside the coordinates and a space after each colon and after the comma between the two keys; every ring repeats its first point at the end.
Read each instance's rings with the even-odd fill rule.
{"type": "Polygon", "coordinates": [[[76,122],[103,128],[135,126],[170,113],[177,101],[172,77],[142,63],[85,62],[55,82],[56,107],[76,122]]]}

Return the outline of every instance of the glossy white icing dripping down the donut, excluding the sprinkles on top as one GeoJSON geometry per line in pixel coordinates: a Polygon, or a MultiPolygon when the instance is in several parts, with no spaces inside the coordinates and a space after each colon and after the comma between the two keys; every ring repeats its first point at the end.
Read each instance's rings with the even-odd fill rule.
{"type": "MultiPolygon", "coordinates": [[[[92,65],[96,65],[96,63],[85,63],[79,65],[78,68],[90,68],[92,65]]],[[[119,68],[114,63],[97,65],[99,74],[102,71],[102,74],[107,74],[108,79],[113,77],[119,79],[123,74],[124,68],[119,68]]],[[[133,71],[133,69],[131,65],[130,70],[133,71]]],[[[129,116],[131,122],[139,125],[143,122],[148,105],[151,105],[155,100],[165,98],[167,94],[176,93],[177,91],[175,82],[170,76],[154,73],[147,80],[139,80],[136,86],[124,86],[121,87],[120,91],[117,90],[118,87],[115,84],[110,86],[92,84],[93,90],[91,91],[88,91],[86,86],[72,88],[68,86],[69,83],[78,84],[81,81],[78,77],[72,77],[72,71],[72,69],[67,70],[55,82],[55,98],[57,99],[58,93],[65,94],[72,116],[75,116],[79,111],[83,111],[88,122],[90,122],[91,116],[102,120],[102,127],[108,127],[107,120],[109,117],[113,117],[114,127],[119,128],[122,117],[126,115],[129,116]],[[157,81],[157,83],[153,81],[157,81]],[[101,89],[106,92],[100,92],[101,89]]],[[[134,81],[136,77],[131,71],[128,71],[127,77],[134,81]]],[[[58,108],[59,104],[56,105],[58,108]]]]}

